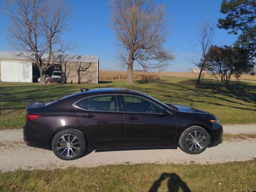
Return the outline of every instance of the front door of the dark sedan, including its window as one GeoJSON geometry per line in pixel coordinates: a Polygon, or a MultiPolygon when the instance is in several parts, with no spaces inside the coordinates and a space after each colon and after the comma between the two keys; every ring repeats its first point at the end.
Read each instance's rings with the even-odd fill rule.
{"type": "Polygon", "coordinates": [[[125,146],[168,147],[176,136],[176,118],[162,107],[139,96],[121,96],[126,124],[125,146]]]}

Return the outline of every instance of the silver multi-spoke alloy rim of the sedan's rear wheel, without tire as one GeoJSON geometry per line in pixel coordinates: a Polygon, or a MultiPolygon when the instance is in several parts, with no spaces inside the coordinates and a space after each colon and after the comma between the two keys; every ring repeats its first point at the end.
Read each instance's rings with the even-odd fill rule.
{"type": "Polygon", "coordinates": [[[65,134],[58,139],[56,148],[61,155],[72,157],[80,150],[80,140],[72,134],[65,134]]]}

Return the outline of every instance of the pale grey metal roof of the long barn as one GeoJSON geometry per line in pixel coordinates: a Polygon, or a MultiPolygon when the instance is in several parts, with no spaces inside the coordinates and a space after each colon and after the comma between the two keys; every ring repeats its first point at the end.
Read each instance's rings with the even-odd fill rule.
{"type": "MultiPolygon", "coordinates": [[[[29,53],[23,52],[7,52],[0,51],[0,59],[15,59],[15,60],[30,60],[29,53]]],[[[43,54],[41,58],[48,58],[48,54],[43,54]]],[[[55,54],[52,55],[51,61],[57,62],[86,62],[86,63],[98,63],[98,56],[85,56],[85,55],[68,55],[68,54],[55,54]]]]}

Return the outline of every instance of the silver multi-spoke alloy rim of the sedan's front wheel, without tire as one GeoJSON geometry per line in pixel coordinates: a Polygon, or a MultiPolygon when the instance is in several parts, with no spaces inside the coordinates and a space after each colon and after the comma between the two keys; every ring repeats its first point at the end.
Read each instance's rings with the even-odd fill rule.
{"type": "Polygon", "coordinates": [[[204,148],[206,138],[200,131],[193,131],[186,137],[186,146],[190,151],[200,151],[204,148]]]}

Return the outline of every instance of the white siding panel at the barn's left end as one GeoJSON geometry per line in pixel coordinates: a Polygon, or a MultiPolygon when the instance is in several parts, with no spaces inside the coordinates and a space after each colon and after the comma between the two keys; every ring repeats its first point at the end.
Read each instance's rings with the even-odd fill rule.
{"type": "Polygon", "coordinates": [[[1,61],[2,82],[31,83],[32,62],[1,61]]]}

